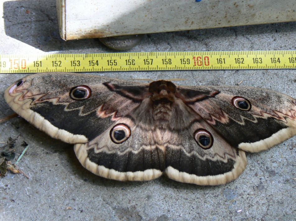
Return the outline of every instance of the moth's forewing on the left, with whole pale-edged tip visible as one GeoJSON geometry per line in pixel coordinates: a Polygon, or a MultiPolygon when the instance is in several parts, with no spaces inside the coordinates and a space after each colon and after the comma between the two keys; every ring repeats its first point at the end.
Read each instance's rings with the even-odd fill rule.
{"type": "Polygon", "coordinates": [[[134,83],[79,73],[39,73],[8,87],[5,99],[16,113],[51,137],[85,143],[138,105],[120,95],[123,90],[116,85],[134,83]],[[71,97],[78,86],[85,91],[85,99],[71,97]]]}

